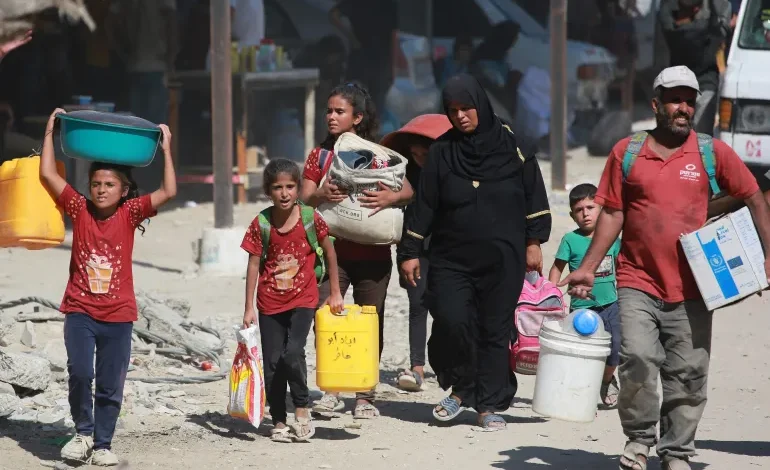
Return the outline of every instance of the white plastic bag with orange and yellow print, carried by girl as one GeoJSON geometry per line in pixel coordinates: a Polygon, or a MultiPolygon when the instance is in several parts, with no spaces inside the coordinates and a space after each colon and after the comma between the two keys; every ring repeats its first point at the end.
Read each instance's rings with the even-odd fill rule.
{"type": "Polygon", "coordinates": [[[265,381],[259,360],[257,327],[236,333],[238,349],[230,368],[230,400],[227,413],[259,427],[265,416],[265,381]]]}

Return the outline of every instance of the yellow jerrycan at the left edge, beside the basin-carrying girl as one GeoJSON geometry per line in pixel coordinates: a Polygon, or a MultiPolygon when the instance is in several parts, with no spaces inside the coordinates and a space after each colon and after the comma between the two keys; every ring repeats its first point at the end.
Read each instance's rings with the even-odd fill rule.
{"type": "MultiPolygon", "coordinates": [[[[64,164],[56,162],[64,177],[64,164]]],[[[0,248],[42,250],[64,241],[64,215],[40,181],[40,157],[0,165],[0,248]]]]}

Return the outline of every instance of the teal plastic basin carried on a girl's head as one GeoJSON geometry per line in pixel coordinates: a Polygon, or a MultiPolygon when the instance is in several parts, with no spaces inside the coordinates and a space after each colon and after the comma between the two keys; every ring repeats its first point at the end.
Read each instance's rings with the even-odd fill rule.
{"type": "MultiPolygon", "coordinates": [[[[91,115],[109,118],[108,113],[91,115]]],[[[86,120],[68,114],[57,115],[61,121],[62,152],[70,158],[142,167],[149,165],[160,145],[160,128],[143,128],[86,120]]],[[[144,121],[148,124],[149,121],[144,121]]]]}

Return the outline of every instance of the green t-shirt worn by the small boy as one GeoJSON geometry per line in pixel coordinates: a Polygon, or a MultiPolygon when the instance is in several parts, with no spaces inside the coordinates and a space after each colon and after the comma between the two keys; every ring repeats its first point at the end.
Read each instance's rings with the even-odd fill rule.
{"type": "MultiPolygon", "coordinates": [[[[581,235],[577,230],[570,232],[561,239],[559,249],[556,251],[556,259],[568,263],[569,270],[572,272],[580,266],[590,244],[591,238],[581,235]]],[[[602,264],[596,270],[594,288],[591,290],[596,300],[573,297],[570,304],[572,310],[577,308],[604,307],[618,300],[618,290],[615,287],[615,263],[619,253],[620,239],[617,239],[604,257],[602,264]]]]}

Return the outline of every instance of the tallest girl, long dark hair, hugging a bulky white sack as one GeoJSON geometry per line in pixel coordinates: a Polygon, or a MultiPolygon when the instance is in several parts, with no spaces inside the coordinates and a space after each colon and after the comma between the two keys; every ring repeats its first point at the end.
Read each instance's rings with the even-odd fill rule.
{"type": "MultiPolygon", "coordinates": [[[[300,199],[306,204],[318,207],[324,202],[341,202],[346,197],[345,190],[336,186],[324,176],[329,171],[333,150],[337,138],[345,132],[353,132],[361,138],[374,141],[377,132],[377,113],[374,100],[362,85],[351,82],[335,87],[329,94],[326,110],[326,124],[329,134],[321,145],[310,152],[302,174],[300,199]]],[[[412,187],[405,182],[399,191],[377,191],[369,193],[376,196],[375,204],[406,204],[413,195],[412,187]],[[381,194],[376,194],[381,193],[381,194]],[[399,202],[400,201],[400,202],[399,202]]],[[[358,305],[373,305],[379,316],[380,356],[383,345],[383,326],[385,320],[385,296],[388,292],[390,275],[393,269],[391,249],[387,245],[361,245],[348,240],[335,242],[340,273],[340,292],[345,295],[349,286],[353,286],[353,301],[358,305]]],[[[321,284],[321,297],[329,293],[330,284],[321,284]]],[[[379,416],[374,406],[374,390],[356,394],[356,406],[353,417],[371,419],[379,416]]],[[[337,394],[327,393],[313,407],[317,413],[337,413],[345,409],[337,394]]]]}

